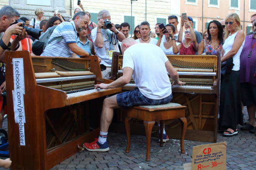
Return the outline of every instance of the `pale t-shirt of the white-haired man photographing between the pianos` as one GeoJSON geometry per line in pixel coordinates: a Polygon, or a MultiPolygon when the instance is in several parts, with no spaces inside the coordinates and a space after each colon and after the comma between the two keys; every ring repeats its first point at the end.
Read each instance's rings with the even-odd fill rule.
{"type": "MultiPolygon", "coordinates": [[[[95,44],[94,45],[94,49],[96,52],[96,55],[98,57],[100,57],[100,59],[102,60],[100,62],[100,64],[104,64],[105,66],[111,67],[112,65],[112,55],[110,56],[109,54],[111,52],[109,51],[117,51],[119,52],[119,48],[118,48],[118,42],[116,42],[116,37],[115,34],[110,31],[109,29],[101,29],[101,35],[103,38],[103,44],[104,46],[102,48],[96,47],[95,44]],[[115,44],[113,45],[113,49],[110,49],[110,38],[112,36],[112,42],[115,44]]],[[[91,38],[92,41],[95,42],[97,37],[97,27],[95,27],[92,32],[91,32],[91,38]]]]}

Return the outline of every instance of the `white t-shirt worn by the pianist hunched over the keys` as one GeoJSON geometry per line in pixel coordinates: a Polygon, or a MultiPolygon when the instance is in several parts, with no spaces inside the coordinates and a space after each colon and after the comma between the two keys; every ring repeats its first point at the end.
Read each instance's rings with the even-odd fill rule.
{"type": "Polygon", "coordinates": [[[138,43],[125,50],[123,68],[133,69],[133,80],[144,96],[159,100],[172,94],[165,67],[167,60],[160,47],[150,43],[138,43]]]}

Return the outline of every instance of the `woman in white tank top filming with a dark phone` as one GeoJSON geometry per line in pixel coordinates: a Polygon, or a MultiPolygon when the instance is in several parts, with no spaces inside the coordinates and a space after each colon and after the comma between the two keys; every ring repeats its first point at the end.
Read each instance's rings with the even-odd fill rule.
{"type": "Polygon", "coordinates": [[[167,24],[160,30],[159,40],[156,45],[159,46],[166,55],[178,54],[181,48],[180,43],[175,40],[174,33],[175,27],[172,24],[167,24]],[[163,36],[165,36],[165,42],[161,42],[163,36]]]}

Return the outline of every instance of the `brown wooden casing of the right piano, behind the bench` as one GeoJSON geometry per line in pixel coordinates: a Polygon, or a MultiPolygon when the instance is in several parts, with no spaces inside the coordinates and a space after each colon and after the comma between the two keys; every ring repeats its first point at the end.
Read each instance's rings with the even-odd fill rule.
{"type": "MultiPolygon", "coordinates": [[[[118,56],[120,53],[114,52],[112,59],[112,70],[110,77],[112,80],[118,78],[118,70],[121,67],[118,56]]],[[[200,55],[167,55],[177,57],[200,57],[200,55]]],[[[208,57],[207,55],[201,55],[202,57],[208,57]]],[[[217,56],[214,56],[217,57],[217,56]]],[[[218,110],[219,110],[219,90],[220,90],[220,57],[215,61],[216,65],[216,79],[213,83],[212,89],[182,89],[173,88],[173,100],[181,105],[186,105],[186,117],[188,120],[187,133],[185,140],[196,140],[206,142],[217,141],[217,129],[218,129],[218,110]]],[[[134,87],[124,86],[123,90],[133,90],[134,87]]],[[[122,124],[126,117],[126,111],[124,109],[118,111],[117,122],[112,123],[110,127],[111,131],[117,133],[124,133],[121,130],[122,124]]],[[[170,138],[179,139],[180,137],[180,124],[176,121],[166,121],[165,128],[170,138]]],[[[131,126],[131,132],[136,135],[143,135],[143,125],[140,123],[134,123],[131,126]]],[[[153,128],[152,136],[158,137],[158,127],[153,128]]]]}

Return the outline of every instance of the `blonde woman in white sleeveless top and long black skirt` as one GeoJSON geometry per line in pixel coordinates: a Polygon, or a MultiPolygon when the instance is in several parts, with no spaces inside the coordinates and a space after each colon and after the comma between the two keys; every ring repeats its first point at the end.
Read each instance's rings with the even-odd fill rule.
{"type": "Polygon", "coordinates": [[[236,13],[227,16],[225,25],[225,43],[222,50],[224,55],[221,56],[220,62],[222,62],[222,67],[225,65],[226,69],[222,72],[220,79],[219,128],[225,129],[223,136],[231,137],[238,135],[237,125],[243,125],[239,70],[245,35],[236,13]]]}

